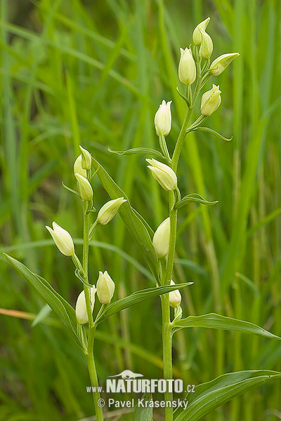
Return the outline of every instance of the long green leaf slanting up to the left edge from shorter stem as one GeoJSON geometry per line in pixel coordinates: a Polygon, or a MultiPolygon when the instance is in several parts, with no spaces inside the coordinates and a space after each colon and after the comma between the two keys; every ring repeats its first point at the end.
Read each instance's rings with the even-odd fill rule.
{"type": "Polygon", "coordinates": [[[34,274],[21,262],[4,253],[9,263],[26,279],[28,283],[39,293],[41,298],[51,307],[58,316],[67,332],[81,345],[77,336],[77,321],[74,308],[58,294],[53,287],[41,276],[34,274]]]}

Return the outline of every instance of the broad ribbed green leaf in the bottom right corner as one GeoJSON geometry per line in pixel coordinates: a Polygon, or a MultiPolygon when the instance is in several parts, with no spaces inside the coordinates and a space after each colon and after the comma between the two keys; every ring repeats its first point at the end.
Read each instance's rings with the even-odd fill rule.
{"type": "Polygon", "coordinates": [[[217,377],[211,382],[195,387],[195,392],[188,394],[188,408],[178,414],[175,421],[197,421],[251,387],[264,385],[281,377],[281,373],[269,370],[240,371],[217,377]]]}

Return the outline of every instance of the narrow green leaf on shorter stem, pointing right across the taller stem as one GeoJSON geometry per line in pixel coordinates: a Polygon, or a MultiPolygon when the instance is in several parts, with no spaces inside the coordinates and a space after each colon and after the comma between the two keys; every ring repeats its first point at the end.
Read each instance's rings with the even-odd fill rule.
{"type": "Polygon", "coordinates": [[[100,317],[98,322],[108,319],[108,317],[112,316],[112,314],[121,312],[122,310],[131,307],[131,305],[135,305],[144,300],[150,300],[150,298],[159,297],[159,295],[184,288],[185,286],[192,285],[192,283],[193,282],[177,283],[176,285],[165,285],[137,291],[136,293],[128,295],[128,297],[122,298],[121,300],[117,300],[108,305],[105,308],[105,313],[100,317]]]}

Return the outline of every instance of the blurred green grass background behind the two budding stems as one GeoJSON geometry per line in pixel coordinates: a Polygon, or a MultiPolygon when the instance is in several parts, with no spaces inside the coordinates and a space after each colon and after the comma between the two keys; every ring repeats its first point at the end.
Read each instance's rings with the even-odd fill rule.
{"type": "MultiPolygon", "coordinates": [[[[74,305],[81,284],[45,225],[63,225],[81,253],[80,203],[61,185],[75,186],[79,144],[103,163],[154,229],[166,218],[167,194],[144,157],[112,155],[107,146],[157,147],[153,119],[164,98],[173,100],[171,151],[185,112],[176,93],[179,47],[189,46],[194,27],[210,16],[212,57],[241,54],[206,86],[219,83],[222,91],[208,126],[233,141],[202,132],[186,138],[182,193],[219,203],[181,210],[174,279],[194,281],[185,288],[185,316],[221,312],[280,335],[280,1],[1,0],[0,9],[1,251],[44,276],[74,305]]],[[[97,178],[94,190],[99,208],[108,196],[97,178]]],[[[98,229],[94,241],[92,282],[106,269],[118,297],[152,285],[119,216],[98,229]]],[[[32,327],[25,318],[44,303],[2,257],[0,269],[0,420],[90,420],[93,403],[80,350],[53,314],[41,314],[32,327]]],[[[122,312],[97,335],[101,383],[124,368],[162,377],[159,300],[122,312]]],[[[175,375],[189,384],[234,370],[280,370],[274,340],[184,330],[174,345],[175,375]]],[[[280,417],[280,383],[274,382],[206,420],[280,417]]],[[[155,420],[162,419],[159,411],[155,420]]]]}

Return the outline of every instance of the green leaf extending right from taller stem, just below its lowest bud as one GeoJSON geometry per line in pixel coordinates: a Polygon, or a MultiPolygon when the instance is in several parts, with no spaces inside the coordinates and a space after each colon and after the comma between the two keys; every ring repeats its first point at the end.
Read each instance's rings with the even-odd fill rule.
{"type": "Polygon", "coordinates": [[[231,317],[221,316],[221,314],[203,314],[202,316],[188,316],[186,319],[181,319],[174,323],[175,330],[181,328],[212,328],[236,330],[242,333],[251,333],[253,335],[263,336],[264,338],[281,339],[279,336],[273,335],[261,328],[260,326],[250,323],[249,321],[232,319],[231,317]]]}

